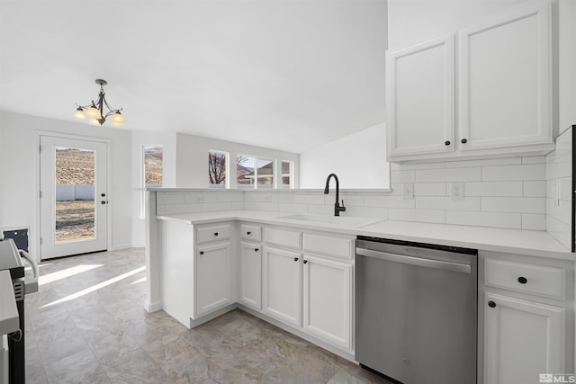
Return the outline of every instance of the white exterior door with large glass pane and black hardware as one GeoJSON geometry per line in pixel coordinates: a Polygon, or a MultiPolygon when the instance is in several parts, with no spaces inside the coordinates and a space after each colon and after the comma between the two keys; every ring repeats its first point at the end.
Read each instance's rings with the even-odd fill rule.
{"type": "Polygon", "coordinates": [[[40,259],[108,246],[107,144],[40,136],[40,259]]]}

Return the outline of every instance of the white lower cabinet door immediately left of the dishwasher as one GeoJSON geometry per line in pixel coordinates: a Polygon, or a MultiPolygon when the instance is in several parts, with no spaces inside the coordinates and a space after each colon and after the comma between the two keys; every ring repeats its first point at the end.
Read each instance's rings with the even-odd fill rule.
{"type": "Polygon", "coordinates": [[[304,255],[304,329],[352,349],[352,264],[304,255]]]}

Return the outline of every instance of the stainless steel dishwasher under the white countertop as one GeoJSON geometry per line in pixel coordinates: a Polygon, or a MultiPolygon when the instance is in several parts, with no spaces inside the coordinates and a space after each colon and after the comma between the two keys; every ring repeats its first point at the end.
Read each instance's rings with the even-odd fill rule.
{"type": "Polygon", "coordinates": [[[356,239],[356,361],[405,384],[476,382],[478,251],[356,239]]]}

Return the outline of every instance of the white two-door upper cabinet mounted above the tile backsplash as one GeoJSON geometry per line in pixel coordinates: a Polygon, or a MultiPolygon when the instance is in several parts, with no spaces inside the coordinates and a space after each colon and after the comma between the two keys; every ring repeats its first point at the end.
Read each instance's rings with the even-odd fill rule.
{"type": "Polygon", "coordinates": [[[451,36],[389,53],[389,161],[554,149],[551,6],[513,8],[458,31],[457,48],[451,36]]]}

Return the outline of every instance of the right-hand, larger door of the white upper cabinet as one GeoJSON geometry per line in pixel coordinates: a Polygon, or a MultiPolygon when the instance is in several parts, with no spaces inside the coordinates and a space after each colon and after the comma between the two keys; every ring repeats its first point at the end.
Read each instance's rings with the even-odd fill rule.
{"type": "Polygon", "coordinates": [[[552,143],[550,6],[460,31],[461,150],[552,143]]]}

